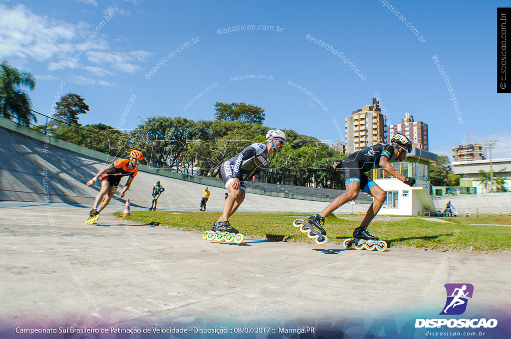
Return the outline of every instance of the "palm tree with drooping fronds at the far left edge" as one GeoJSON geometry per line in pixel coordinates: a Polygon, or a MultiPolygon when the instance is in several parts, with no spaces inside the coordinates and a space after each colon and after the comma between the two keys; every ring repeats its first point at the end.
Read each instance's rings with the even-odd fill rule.
{"type": "Polygon", "coordinates": [[[14,116],[19,124],[30,126],[30,120],[37,123],[37,119],[30,110],[32,102],[28,94],[20,89],[21,86],[33,90],[34,76],[29,72],[19,72],[4,60],[0,64],[0,116],[8,119],[14,116]]]}

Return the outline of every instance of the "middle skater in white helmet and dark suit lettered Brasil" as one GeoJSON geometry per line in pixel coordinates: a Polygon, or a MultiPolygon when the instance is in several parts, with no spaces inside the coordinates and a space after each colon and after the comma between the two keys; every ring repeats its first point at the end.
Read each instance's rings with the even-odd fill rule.
{"type": "Polygon", "coordinates": [[[281,130],[269,130],[266,133],[266,144],[252,143],[237,156],[225,161],[220,167],[220,176],[229,191],[225,199],[223,212],[211,227],[212,231],[239,233],[229,224],[229,217],[236,212],[245,199],[244,180],[252,175],[259,167],[267,166],[271,155],[284,146],[286,135],[281,130]]]}

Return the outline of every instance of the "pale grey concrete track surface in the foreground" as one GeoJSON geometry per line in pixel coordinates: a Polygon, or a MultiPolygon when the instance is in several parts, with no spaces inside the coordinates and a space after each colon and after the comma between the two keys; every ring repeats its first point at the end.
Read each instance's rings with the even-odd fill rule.
{"type": "Polygon", "coordinates": [[[199,232],[123,224],[107,213],[114,208],[97,225],[85,225],[87,210],[0,204],[0,319],[47,326],[241,326],[403,313],[416,318],[438,314],[446,300],[443,285],[452,282],[474,285],[472,313],[511,304],[507,254],[368,252],[254,239],[214,243],[199,232]]]}

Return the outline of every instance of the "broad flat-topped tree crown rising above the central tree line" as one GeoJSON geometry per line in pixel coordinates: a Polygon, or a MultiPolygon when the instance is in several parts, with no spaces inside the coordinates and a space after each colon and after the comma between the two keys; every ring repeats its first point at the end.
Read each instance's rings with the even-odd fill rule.
{"type": "Polygon", "coordinates": [[[216,119],[221,122],[239,121],[249,124],[263,124],[265,119],[264,109],[245,103],[215,103],[216,119]]]}

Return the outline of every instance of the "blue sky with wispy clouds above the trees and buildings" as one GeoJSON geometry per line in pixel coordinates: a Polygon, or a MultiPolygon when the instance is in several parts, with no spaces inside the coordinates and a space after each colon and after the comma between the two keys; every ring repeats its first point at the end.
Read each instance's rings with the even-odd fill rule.
{"type": "Polygon", "coordinates": [[[376,92],[392,124],[410,112],[429,125],[432,152],[452,156],[472,131],[471,143],[498,140],[493,157],[511,157],[511,94],[496,91],[497,7],[509,2],[387,3],[390,9],[384,0],[4,1],[0,59],[36,76],[36,111],[50,113],[62,82],[63,94],[82,95],[90,106],[83,125],[118,126],[133,97],[123,128],[154,115],[211,120],[215,102],[245,102],[266,110],[269,127],[333,142],[344,138],[344,117],[376,92]],[[240,30],[222,32],[233,27],[240,30]],[[455,89],[462,125],[435,55],[455,89]],[[266,78],[234,80],[247,75],[266,78]]]}

